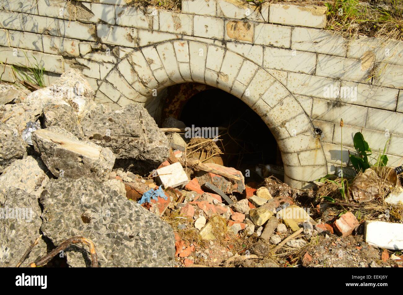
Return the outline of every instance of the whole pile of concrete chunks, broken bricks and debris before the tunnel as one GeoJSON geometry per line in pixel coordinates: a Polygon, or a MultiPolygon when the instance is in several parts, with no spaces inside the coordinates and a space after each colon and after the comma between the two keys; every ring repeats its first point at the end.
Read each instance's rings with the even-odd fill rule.
{"type": "MultiPolygon", "coordinates": [[[[162,124],[184,127],[173,118],[162,124]]],[[[317,203],[312,188],[247,181],[233,167],[186,158],[187,141],[166,136],[140,104],[97,105],[73,69],[32,93],[0,87],[0,266],[15,266],[40,235],[23,266],[76,236],[93,241],[102,267],[274,267],[290,261],[264,258],[283,249],[302,266],[323,266],[361,249],[403,249],[402,223],[364,222],[317,203]],[[29,122],[40,126],[32,145],[22,138],[29,122]]],[[[402,196],[397,186],[385,202],[401,206],[402,196]]],[[[384,266],[401,266],[386,254],[384,266]]],[[[374,266],[375,256],[357,265],[374,266]]],[[[91,266],[91,255],[77,244],[53,263],[91,266]]]]}

